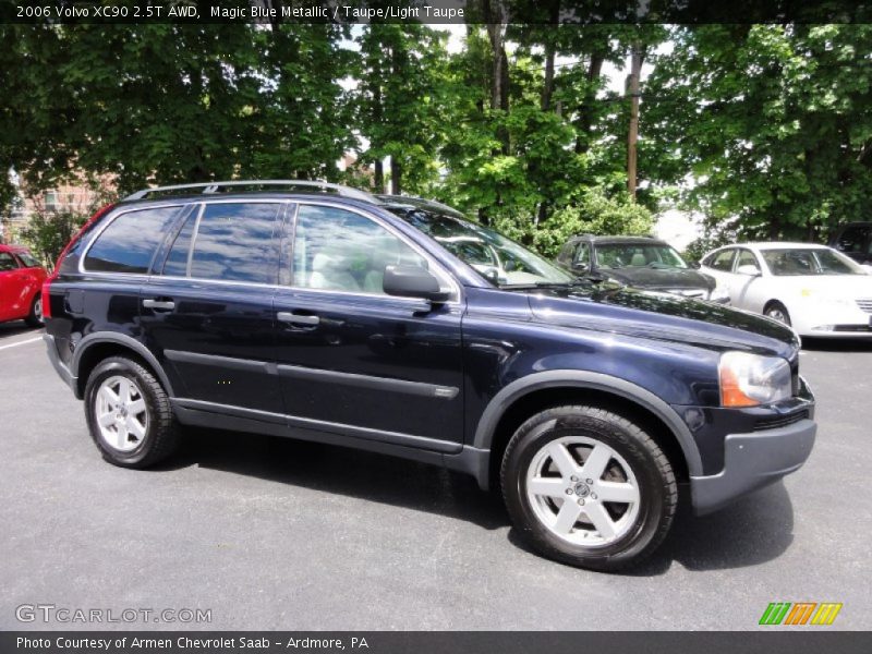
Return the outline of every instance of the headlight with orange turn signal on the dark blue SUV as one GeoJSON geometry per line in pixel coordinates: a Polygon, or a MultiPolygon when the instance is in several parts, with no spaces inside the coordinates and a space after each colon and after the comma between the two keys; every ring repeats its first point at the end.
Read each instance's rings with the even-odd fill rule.
{"type": "Polygon", "coordinates": [[[725,352],[718,365],[722,407],[756,407],[792,395],[790,366],[779,356],[725,352]]]}

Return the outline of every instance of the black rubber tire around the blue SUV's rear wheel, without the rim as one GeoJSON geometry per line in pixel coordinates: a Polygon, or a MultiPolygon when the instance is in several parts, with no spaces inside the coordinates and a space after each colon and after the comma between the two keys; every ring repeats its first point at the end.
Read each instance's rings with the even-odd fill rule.
{"type": "Polygon", "coordinates": [[[110,356],[90,373],[85,386],[85,415],[90,437],[104,459],[114,465],[148,468],[170,457],[179,446],[179,425],[164,387],[149,370],[125,356],[110,356]],[[107,443],[98,424],[97,393],[104,382],[113,377],[124,377],[135,384],[145,401],[145,435],[131,451],[121,451],[107,443]]]}

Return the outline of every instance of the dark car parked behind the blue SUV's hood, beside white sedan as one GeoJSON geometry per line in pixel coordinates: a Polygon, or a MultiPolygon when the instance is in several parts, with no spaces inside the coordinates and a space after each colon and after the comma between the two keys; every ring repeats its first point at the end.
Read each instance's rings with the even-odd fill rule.
{"type": "Polygon", "coordinates": [[[618,281],[646,291],[658,291],[726,303],[726,291],[714,278],[691,268],[668,243],[650,237],[597,237],[570,239],[557,263],[577,275],[618,281]]]}

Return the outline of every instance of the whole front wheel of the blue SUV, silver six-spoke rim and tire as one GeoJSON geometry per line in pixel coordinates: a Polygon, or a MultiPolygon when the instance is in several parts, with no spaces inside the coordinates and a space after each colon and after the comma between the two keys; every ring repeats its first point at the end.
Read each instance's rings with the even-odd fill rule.
{"type": "Polygon", "coordinates": [[[545,556],[615,570],[651,554],[669,531],[673,468],[641,427],[596,407],[532,416],[502,459],[502,494],[520,533],[545,556]]]}

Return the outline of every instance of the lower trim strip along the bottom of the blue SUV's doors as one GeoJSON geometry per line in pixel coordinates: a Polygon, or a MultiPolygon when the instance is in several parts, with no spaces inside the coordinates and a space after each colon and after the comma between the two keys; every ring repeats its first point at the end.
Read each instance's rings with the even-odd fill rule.
{"type": "Polygon", "coordinates": [[[178,398],[173,399],[172,402],[184,409],[208,411],[211,413],[225,413],[227,415],[234,415],[238,417],[249,417],[252,420],[259,420],[270,423],[283,422],[289,427],[299,427],[301,429],[313,429],[316,432],[340,434],[343,436],[352,436],[365,440],[375,440],[391,445],[402,445],[414,449],[425,449],[425,450],[431,450],[436,452],[447,452],[447,453],[457,453],[463,449],[462,444],[449,440],[436,440],[435,438],[426,438],[424,436],[413,436],[411,434],[403,434],[400,432],[383,432],[379,429],[372,429],[370,427],[358,427],[354,425],[347,425],[344,423],[332,423],[323,420],[315,420],[312,417],[284,415],[281,413],[271,413],[269,411],[261,411],[257,409],[245,409],[244,407],[235,407],[233,404],[220,404],[218,402],[207,402],[205,400],[192,400],[190,398],[178,398]]]}

